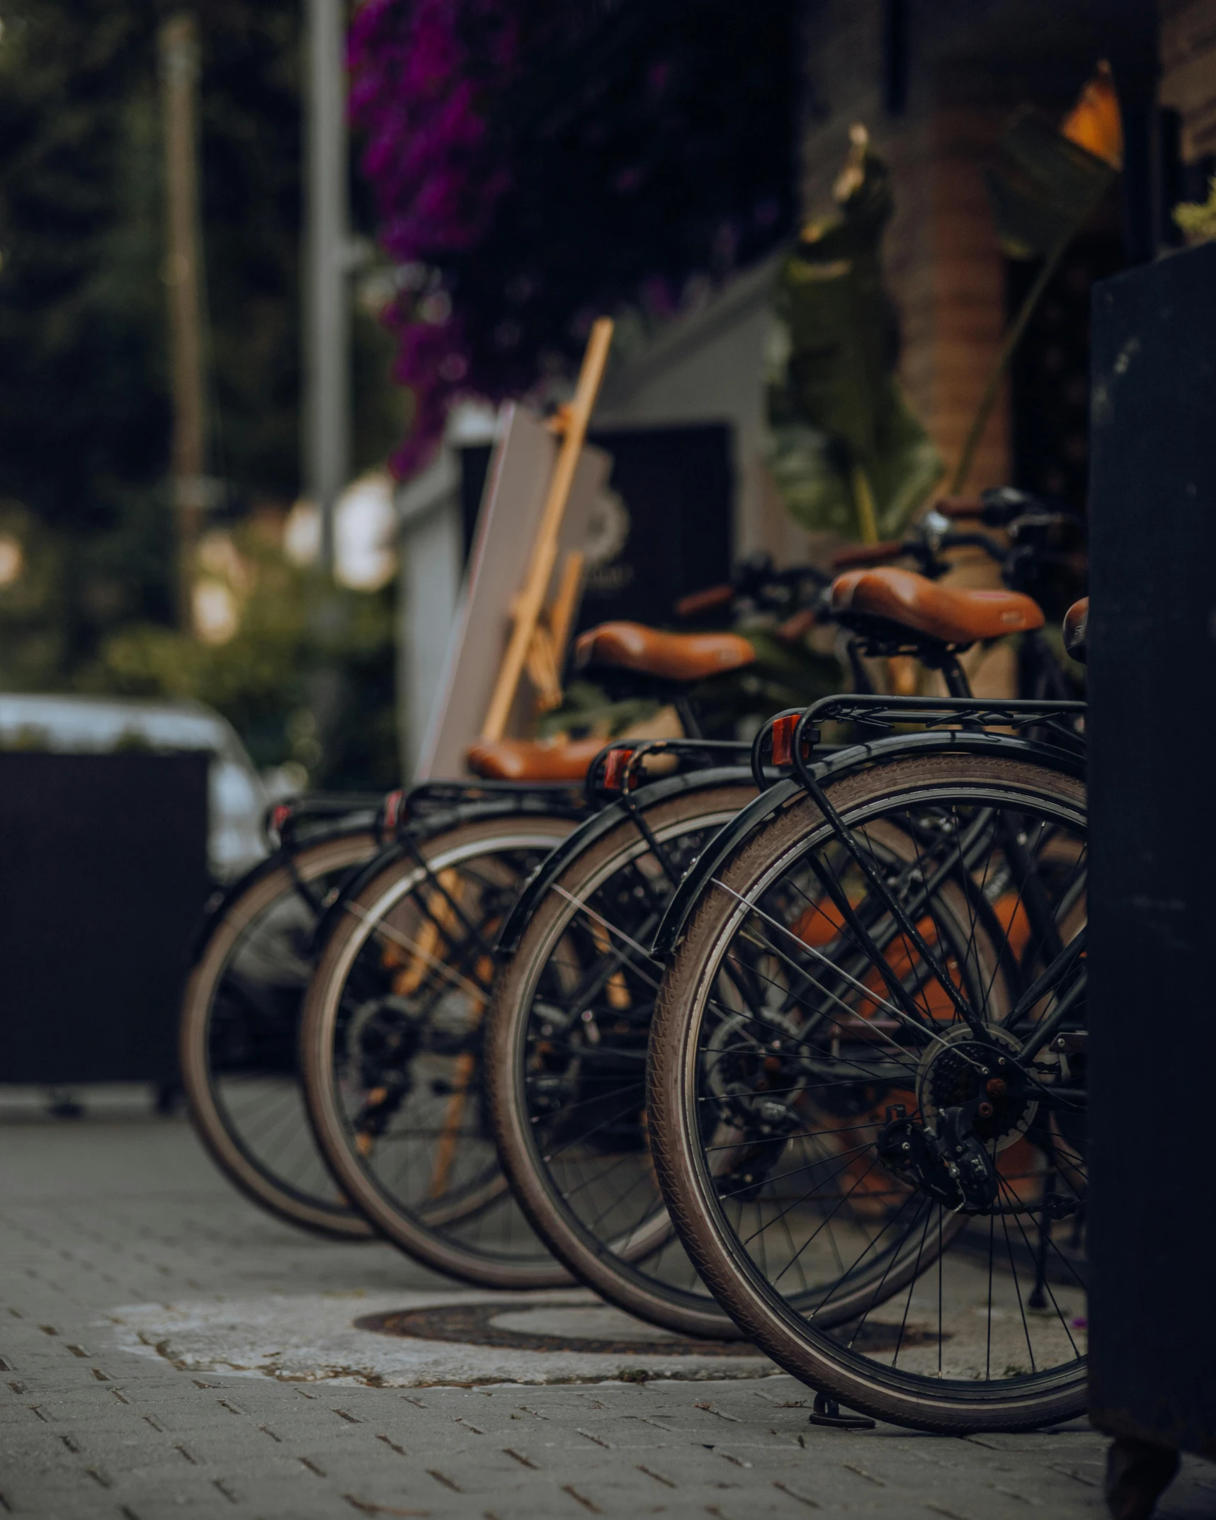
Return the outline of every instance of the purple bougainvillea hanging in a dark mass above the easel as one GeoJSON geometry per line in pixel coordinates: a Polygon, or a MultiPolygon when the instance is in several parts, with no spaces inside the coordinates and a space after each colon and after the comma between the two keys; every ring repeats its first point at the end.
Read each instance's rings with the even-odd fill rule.
{"type": "Polygon", "coordinates": [[[781,236],[795,3],[689,0],[690,24],[679,9],[354,8],[348,111],[412,395],[398,474],[459,397],[543,397],[593,316],[629,302],[664,321],[701,289],[690,275],[720,280],[781,236]]]}

